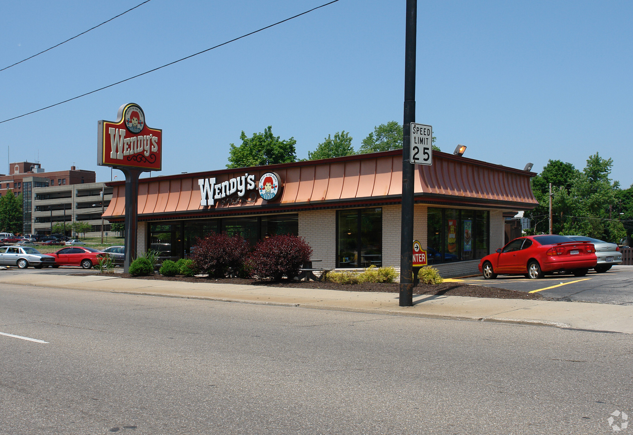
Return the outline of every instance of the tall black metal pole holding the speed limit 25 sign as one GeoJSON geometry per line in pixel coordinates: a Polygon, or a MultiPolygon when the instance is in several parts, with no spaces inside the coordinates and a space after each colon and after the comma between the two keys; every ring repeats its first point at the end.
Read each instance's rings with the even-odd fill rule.
{"type": "Polygon", "coordinates": [[[417,0],[406,0],[404,44],[404,137],[402,149],[402,220],[400,233],[401,307],[413,305],[413,164],[410,160],[411,126],[415,122],[415,38],[417,0]]]}

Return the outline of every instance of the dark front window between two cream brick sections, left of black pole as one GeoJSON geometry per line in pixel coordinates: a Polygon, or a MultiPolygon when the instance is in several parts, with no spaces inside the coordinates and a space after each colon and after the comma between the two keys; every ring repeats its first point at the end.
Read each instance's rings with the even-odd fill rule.
{"type": "Polygon", "coordinates": [[[382,209],[338,212],[337,267],[382,266],[382,209]]]}

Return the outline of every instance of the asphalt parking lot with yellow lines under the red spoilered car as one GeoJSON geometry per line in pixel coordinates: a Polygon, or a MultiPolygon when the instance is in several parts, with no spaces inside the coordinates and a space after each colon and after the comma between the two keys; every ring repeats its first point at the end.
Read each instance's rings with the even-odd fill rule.
{"type": "Polygon", "coordinates": [[[617,303],[633,305],[633,266],[613,266],[606,273],[590,271],[579,278],[573,275],[546,275],[543,279],[527,279],[523,275],[499,275],[497,279],[483,276],[465,278],[472,285],[536,291],[544,297],[579,302],[617,303]]]}

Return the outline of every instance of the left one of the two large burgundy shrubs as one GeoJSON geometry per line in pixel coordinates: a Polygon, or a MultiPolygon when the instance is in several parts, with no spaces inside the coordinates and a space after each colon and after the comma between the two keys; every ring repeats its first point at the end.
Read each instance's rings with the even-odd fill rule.
{"type": "Polygon", "coordinates": [[[209,278],[236,275],[244,267],[248,252],[248,243],[240,235],[210,234],[197,239],[193,268],[209,278]]]}

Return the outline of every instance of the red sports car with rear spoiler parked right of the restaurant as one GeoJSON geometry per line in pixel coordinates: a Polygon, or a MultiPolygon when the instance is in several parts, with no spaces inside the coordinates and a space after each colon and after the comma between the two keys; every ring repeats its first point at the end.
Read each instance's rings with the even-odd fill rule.
{"type": "Polygon", "coordinates": [[[543,278],[545,273],[569,271],[585,276],[596,266],[596,248],[592,243],[575,242],[565,236],[541,235],[515,238],[486,255],[479,262],[479,271],[485,279],[498,274],[525,274],[526,278],[543,278]]]}

